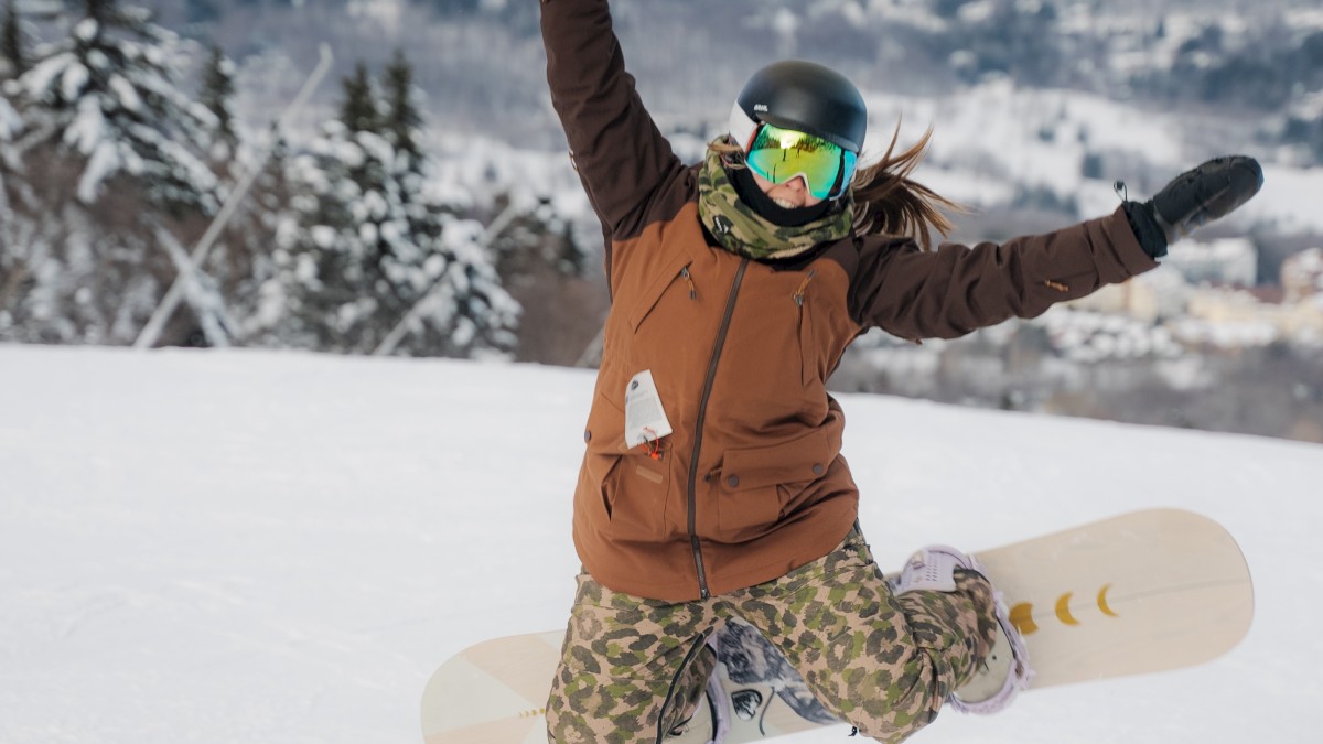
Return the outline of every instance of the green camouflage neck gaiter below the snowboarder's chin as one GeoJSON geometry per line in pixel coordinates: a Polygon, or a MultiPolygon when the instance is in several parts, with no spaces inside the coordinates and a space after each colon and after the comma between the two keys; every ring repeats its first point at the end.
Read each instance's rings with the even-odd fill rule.
{"type": "Polygon", "coordinates": [[[699,218],[721,248],[749,258],[789,258],[812,246],[849,234],[851,196],[840,197],[822,218],[806,225],[782,226],[769,222],[740,199],[712,150],[699,168],[699,218]]]}

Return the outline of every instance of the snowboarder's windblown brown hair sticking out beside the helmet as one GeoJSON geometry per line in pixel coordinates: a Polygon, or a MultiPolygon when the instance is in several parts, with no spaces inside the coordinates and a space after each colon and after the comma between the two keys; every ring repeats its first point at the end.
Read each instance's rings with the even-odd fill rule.
{"type": "MultiPolygon", "coordinates": [[[[892,143],[882,159],[855,171],[851,191],[855,195],[855,229],[860,234],[913,237],[923,250],[931,250],[931,230],[943,237],[951,234],[955,224],[946,212],[966,212],[967,208],[934,192],[909,176],[927,155],[933,127],[923,132],[909,150],[896,152],[901,126],[896,123],[892,143]]],[[[729,138],[713,142],[709,150],[720,152],[726,167],[744,168],[744,151],[729,138]]]]}

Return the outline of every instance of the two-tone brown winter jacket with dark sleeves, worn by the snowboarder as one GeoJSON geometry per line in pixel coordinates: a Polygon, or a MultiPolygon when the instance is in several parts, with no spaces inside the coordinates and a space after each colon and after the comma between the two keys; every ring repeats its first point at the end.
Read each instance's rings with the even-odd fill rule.
{"type": "Polygon", "coordinates": [[[611,310],[574,494],[574,544],[601,584],[687,601],[830,552],[859,492],[827,376],[875,326],[955,338],[1154,267],[1118,209],[1002,245],[851,236],[795,266],[713,248],[696,167],[654,126],[606,0],[544,0],[552,101],[609,237],[611,310]],[[673,433],[624,442],[630,379],[651,371],[673,433]]]}

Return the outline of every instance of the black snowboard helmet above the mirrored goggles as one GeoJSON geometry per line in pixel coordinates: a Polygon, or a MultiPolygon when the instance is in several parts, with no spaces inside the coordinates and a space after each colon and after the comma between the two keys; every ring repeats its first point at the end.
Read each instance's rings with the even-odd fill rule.
{"type": "Polygon", "coordinates": [[[859,155],[868,109],[845,75],[786,60],[754,73],[730,109],[730,135],[740,147],[749,147],[761,123],[816,135],[859,155]]]}

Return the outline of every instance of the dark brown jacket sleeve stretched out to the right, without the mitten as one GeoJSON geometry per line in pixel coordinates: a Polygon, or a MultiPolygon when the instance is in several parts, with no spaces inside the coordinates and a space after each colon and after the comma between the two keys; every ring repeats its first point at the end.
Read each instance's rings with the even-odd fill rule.
{"type": "Polygon", "coordinates": [[[1158,263],[1139,246],[1122,209],[1053,233],[974,248],[913,241],[860,246],[849,310],[864,328],[904,339],[954,339],[1008,318],[1123,282],[1158,263]]]}

